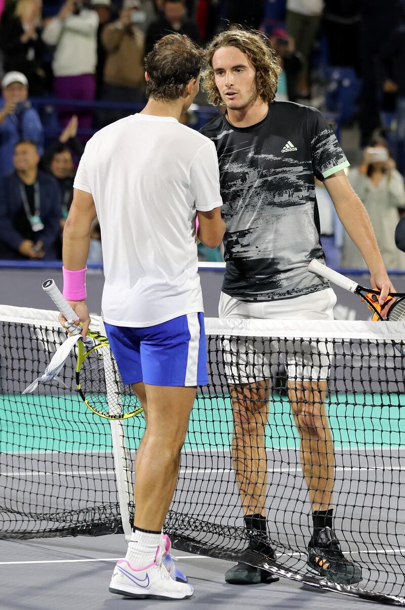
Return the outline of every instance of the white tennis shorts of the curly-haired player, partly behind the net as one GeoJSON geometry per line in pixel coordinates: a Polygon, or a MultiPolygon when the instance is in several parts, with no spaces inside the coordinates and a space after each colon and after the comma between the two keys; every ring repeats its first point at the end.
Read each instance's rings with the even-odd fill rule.
{"type": "MultiPolygon", "coordinates": [[[[336,294],[333,289],[280,301],[245,303],[224,292],[219,300],[220,318],[252,318],[267,320],[333,320],[336,294]]],[[[280,334],[282,334],[282,330],[280,334]]],[[[224,340],[224,365],[228,382],[234,385],[253,384],[269,379],[274,365],[284,364],[289,379],[321,381],[328,378],[333,354],[325,341],[302,339],[224,340]]]]}

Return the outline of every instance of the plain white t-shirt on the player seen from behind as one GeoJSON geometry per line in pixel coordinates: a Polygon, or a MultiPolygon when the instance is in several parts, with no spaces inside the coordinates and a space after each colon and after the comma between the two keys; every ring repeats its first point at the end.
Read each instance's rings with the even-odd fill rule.
{"type": "Polygon", "coordinates": [[[211,140],[172,117],[132,115],[89,140],[74,187],[96,205],[107,323],[153,326],[203,311],[195,214],[222,206],[211,140]]]}

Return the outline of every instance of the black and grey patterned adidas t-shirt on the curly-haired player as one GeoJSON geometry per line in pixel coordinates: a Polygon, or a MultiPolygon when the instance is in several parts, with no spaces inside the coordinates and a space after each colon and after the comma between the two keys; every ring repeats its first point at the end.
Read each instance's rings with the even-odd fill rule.
{"type": "Polygon", "coordinates": [[[241,301],[272,301],[327,287],[308,271],[311,259],[325,260],[314,176],[323,180],[349,163],[322,114],[273,102],[252,127],[233,127],[219,115],[201,132],[219,160],[227,223],[222,290],[241,301]]]}

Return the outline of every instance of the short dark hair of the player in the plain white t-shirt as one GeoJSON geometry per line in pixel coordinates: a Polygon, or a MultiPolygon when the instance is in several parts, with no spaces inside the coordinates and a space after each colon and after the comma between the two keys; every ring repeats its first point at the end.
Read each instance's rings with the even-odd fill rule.
{"type": "Polygon", "coordinates": [[[161,38],[145,58],[149,75],[146,96],[153,99],[178,99],[186,85],[198,78],[204,63],[204,51],[185,34],[161,38]]]}

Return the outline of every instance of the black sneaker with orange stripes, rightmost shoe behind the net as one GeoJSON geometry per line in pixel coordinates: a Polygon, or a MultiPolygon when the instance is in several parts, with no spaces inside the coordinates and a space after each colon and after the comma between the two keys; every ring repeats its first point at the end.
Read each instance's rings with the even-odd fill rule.
{"type": "Polygon", "coordinates": [[[321,529],[308,545],[308,567],[329,583],[356,584],[362,579],[361,567],[347,559],[331,528],[321,529]]]}

